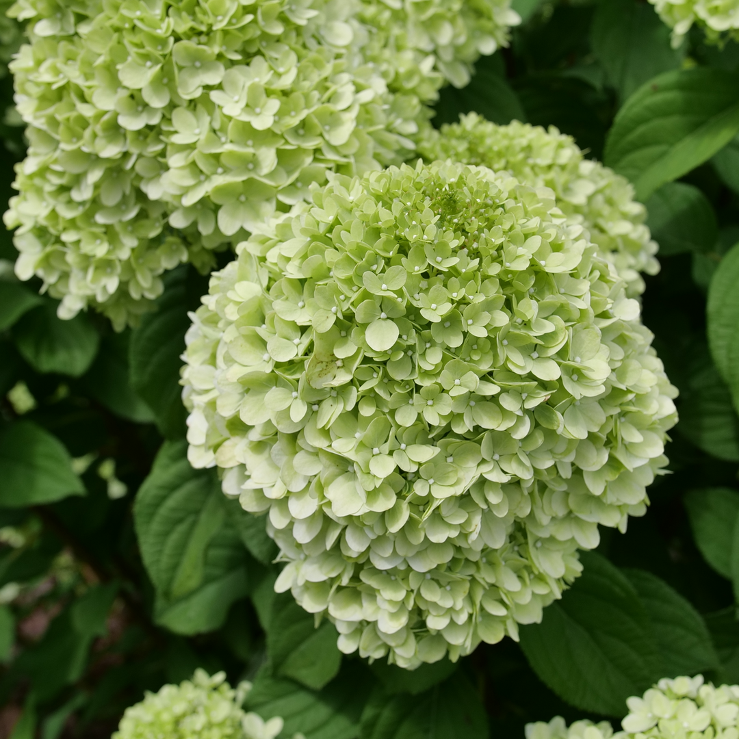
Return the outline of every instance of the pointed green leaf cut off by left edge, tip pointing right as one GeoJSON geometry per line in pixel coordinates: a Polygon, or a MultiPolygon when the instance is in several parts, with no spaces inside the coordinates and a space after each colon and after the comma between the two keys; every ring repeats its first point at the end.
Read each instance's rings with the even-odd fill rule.
{"type": "Polygon", "coordinates": [[[85,494],[61,441],[25,420],[0,431],[0,480],[3,508],[24,508],[85,494]]]}

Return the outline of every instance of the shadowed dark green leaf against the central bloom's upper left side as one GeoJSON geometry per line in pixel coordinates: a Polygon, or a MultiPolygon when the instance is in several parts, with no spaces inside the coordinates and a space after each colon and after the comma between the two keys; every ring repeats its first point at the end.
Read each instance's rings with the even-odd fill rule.
{"type": "Polygon", "coordinates": [[[156,301],[157,310],[143,316],[131,334],[132,387],[154,412],[157,426],[168,439],[182,438],[186,430],[180,355],[190,327],[188,310],[194,307],[187,270],[174,270],[168,275],[163,296],[156,301]]]}

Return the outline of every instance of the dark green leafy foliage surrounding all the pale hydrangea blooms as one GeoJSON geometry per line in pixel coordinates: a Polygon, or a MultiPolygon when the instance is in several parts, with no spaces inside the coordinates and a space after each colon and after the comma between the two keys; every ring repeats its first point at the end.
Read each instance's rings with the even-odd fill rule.
{"type": "MultiPolygon", "coordinates": [[[[174,270],[157,310],[116,334],[93,314],[61,321],[4,270],[0,721],[13,739],[107,739],[144,690],[196,667],[253,681],[248,707],[285,718],[285,739],[522,739],[558,714],[618,723],[624,698],[667,675],[739,683],[739,45],[697,33],[672,50],[642,0],[514,5],[511,47],[443,90],[435,123],[474,110],[557,126],[647,199],[662,268],[644,321],[681,392],[672,474],[647,516],[601,532],[520,644],[411,673],[346,657],[332,624],[274,593],[265,519],[186,460],[180,354],[207,278],[174,270]]],[[[0,134],[7,197],[21,135],[0,134]]],[[[14,259],[7,233],[0,258],[14,259]]]]}

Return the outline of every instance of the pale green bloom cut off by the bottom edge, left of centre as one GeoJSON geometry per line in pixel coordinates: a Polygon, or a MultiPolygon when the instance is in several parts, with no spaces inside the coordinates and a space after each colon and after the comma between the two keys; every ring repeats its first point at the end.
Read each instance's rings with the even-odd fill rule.
{"type": "MultiPolygon", "coordinates": [[[[196,670],[192,680],[165,685],[146,693],[140,703],[126,709],[112,739],[275,739],[282,718],[263,721],[241,705],[251,685],[236,689],[225,682],[225,672],[212,677],[196,670]]],[[[296,735],[294,739],[300,739],[296,735]]],[[[304,739],[304,738],[303,738],[304,739]]]]}

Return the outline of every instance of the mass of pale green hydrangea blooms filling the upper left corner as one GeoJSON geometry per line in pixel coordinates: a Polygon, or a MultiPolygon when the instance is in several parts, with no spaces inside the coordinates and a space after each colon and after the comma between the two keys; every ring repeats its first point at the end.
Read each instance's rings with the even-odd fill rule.
{"type": "Polygon", "coordinates": [[[469,4],[461,30],[410,3],[396,60],[406,10],[385,18],[382,0],[18,0],[31,42],[11,65],[30,139],[5,218],[18,276],[40,276],[63,317],[93,305],[122,327],[163,271],[207,270],[208,250],[327,171],[406,158],[454,53],[503,41],[501,1],[469,4]],[[362,13],[389,25],[375,33],[362,13]]]}

